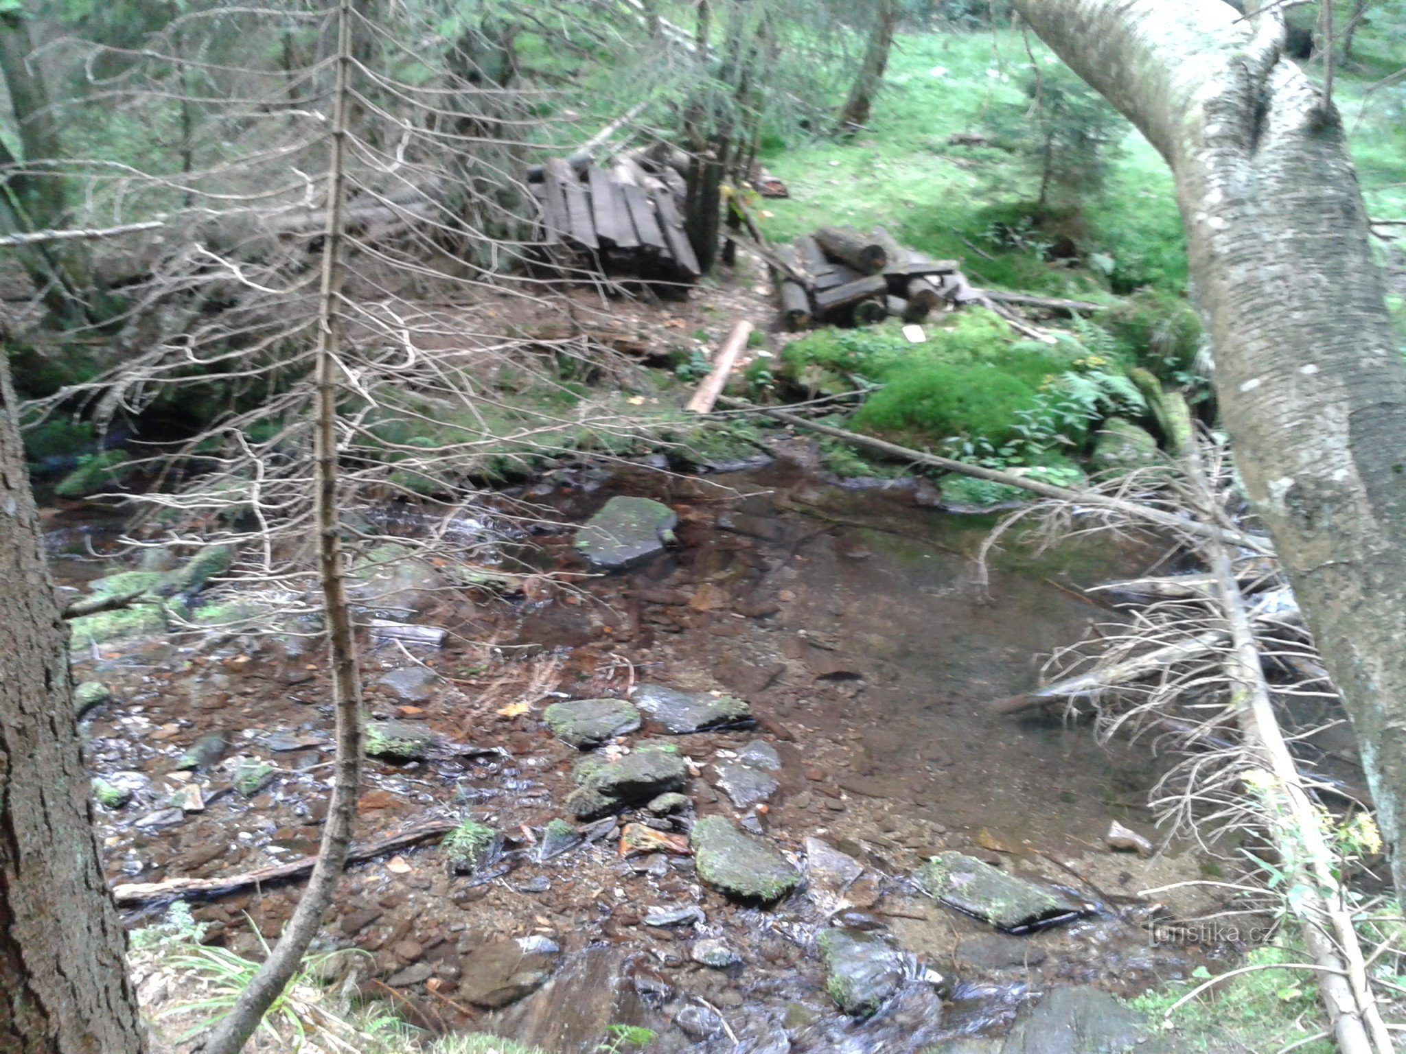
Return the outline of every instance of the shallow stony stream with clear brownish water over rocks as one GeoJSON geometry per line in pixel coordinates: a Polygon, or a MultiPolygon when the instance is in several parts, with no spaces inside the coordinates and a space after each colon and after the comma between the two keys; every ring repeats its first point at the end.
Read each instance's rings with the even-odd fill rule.
{"type": "MultiPolygon", "coordinates": [[[[1099,542],[1002,557],[981,586],[972,554],[987,523],[932,509],[922,489],[846,490],[811,469],[797,445],[704,478],[557,474],[530,496],[564,521],[647,496],[675,514],[671,544],[592,575],[574,530],[544,534],[530,558],[565,583],[426,589],[413,621],[444,628],[443,648],[367,642],[374,720],[488,752],[368,762],[357,838],[461,816],[496,832],[470,873],[432,845],[349,868],[326,932],[370,953],[368,994],[394,989],[436,1030],[495,1027],[560,1051],[593,1048],[610,1023],[657,1030],[661,1051],[733,1050],[728,1030],[751,1050],[917,1051],[1000,1037],[1062,985],[1128,995],[1219,954],[1153,944],[1135,895],[1201,877],[1195,856],[1104,843],[1112,819],[1153,833],[1154,759],[983,705],[1029,689],[1036,656],[1108,617],[1077,586],[1139,572],[1146,554],[1099,542]],[[644,705],[644,686],[731,696],[748,713],[686,731],[644,705]],[[547,707],[589,698],[633,700],[640,728],[626,720],[588,753],[554,735],[547,707]],[[651,746],[672,759],[650,766],[658,786],[582,779],[583,757],[620,765],[651,746]],[[613,801],[574,815],[582,791],[613,801]],[[706,818],[704,833],[751,839],[799,888],[724,892],[699,846],[706,818]],[[1029,878],[1080,918],[1011,936],[942,906],[911,876],[945,850],[1029,878]],[[837,925],[851,936],[823,936],[837,925]],[[876,998],[845,995],[870,982],[876,998]]],[[[315,849],[330,713],[311,642],[94,652],[76,676],[111,698],[84,721],[90,765],[131,795],[97,816],[114,883],[315,849]],[[179,770],[202,739],[207,755],[179,770]]],[[[208,939],[252,954],[245,912],[277,936],[297,892],[252,888],[195,915],[208,939]]]]}

